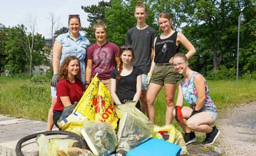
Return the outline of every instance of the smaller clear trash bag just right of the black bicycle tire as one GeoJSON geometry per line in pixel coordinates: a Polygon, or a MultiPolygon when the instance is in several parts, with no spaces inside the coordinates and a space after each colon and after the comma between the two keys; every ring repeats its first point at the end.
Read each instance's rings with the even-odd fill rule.
{"type": "Polygon", "coordinates": [[[115,151],[117,135],[111,123],[86,121],[80,132],[94,155],[109,155],[115,151]]]}

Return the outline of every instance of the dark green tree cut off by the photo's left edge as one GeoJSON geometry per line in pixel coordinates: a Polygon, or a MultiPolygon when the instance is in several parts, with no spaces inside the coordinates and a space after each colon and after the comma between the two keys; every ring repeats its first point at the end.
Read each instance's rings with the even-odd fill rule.
{"type": "Polygon", "coordinates": [[[5,59],[7,57],[7,54],[5,53],[5,45],[8,41],[7,32],[8,28],[5,27],[0,23],[0,75],[2,72],[2,68],[6,65],[7,60],[5,59]]]}

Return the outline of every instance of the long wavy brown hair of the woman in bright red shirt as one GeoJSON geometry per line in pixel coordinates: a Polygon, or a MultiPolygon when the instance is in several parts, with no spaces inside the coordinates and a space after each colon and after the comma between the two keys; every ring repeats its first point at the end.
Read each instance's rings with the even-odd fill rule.
{"type": "MultiPolygon", "coordinates": [[[[67,66],[69,65],[69,63],[72,60],[78,60],[78,58],[75,57],[75,56],[68,56],[61,63],[60,69],[59,69],[59,77],[58,77],[59,80],[67,79],[67,81],[70,81],[70,79],[68,79],[68,69],[67,69],[67,66]]],[[[78,60],[78,64],[79,64],[79,70],[78,70],[78,74],[76,74],[75,77],[78,78],[78,79],[81,79],[81,69],[80,69],[80,62],[79,62],[79,60],[78,60]]]]}

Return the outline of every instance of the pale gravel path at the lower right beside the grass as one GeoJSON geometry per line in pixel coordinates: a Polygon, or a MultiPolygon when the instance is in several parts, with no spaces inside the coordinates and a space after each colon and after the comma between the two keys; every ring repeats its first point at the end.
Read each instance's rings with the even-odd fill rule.
{"type": "Polygon", "coordinates": [[[256,101],[222,111],[216,125],[225,155],[256,155],[256,101]]]}

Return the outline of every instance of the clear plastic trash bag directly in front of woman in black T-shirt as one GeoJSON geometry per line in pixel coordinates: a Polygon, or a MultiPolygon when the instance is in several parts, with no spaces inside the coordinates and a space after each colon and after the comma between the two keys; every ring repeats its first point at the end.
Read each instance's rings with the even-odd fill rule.
{"type": "Polygon", "coordinates": [[[135,107],[135,102],[117,105],[115,111],[120,118],[116,152],[130,151],[152,137],[153,124],[135,107]]]}

